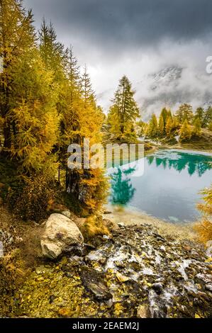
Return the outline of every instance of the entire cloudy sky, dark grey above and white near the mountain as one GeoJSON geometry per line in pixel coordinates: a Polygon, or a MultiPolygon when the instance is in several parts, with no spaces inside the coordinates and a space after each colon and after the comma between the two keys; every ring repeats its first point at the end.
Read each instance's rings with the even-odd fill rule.
{"type": "MultiPolygon", "coordinates": [[[[58,39],[73,45],[79,64],[87,63],[99,103],[105,108],[123,74],[137,90],[141,107],[146,98],[157,99],[150,74],[167,67],[183,69],[177,89],[179,95],[185,89],[189,95],[179,96],[180,100],[188,98],[195,104],[212,84],[212,76],[206,73],[206,57],[212,55],[211,0],[23,2],[33,9],[37,27],[43,17],[51,20],[58,39]]],[[[160,96],[170,89],[169,82],[162,86],[157,87],[160,96]]]]}

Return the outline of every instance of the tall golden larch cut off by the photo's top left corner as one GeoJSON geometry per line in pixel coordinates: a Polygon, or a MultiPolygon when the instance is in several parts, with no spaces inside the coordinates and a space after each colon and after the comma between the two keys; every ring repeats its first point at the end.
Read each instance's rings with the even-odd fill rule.
{"type": "Polygon", "coordinates": [[[22,1],[0,1],[0,56],[3,60],[0,77],[0,123],[4,133],[4,152],[11,149],[11,136],[16,132],[16,125],[10,116],[11,71],[18,58],[35,44],[32,22],[32,13],[23,9],[22,1]]]}

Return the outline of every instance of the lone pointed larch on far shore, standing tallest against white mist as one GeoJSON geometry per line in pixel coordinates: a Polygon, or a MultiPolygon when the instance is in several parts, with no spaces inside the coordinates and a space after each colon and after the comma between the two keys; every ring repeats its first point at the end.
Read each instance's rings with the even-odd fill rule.
{"type": "Polygon", "coordinates": [[[130,81],[124,76],[119,81],[113,105],[108,113],[108,124],[111,126],[111,132],[119,137],[132,132],[135,120],[139,116],[134,94],[130,81]]]}

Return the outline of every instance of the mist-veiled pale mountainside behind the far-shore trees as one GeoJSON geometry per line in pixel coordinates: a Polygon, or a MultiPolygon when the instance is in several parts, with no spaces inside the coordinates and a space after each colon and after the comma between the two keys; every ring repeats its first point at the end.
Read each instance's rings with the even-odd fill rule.
{"type": "MultiPolygon", "coordinates": [[[[211,76],[189,68],[162,68],[133,83],[133,89],[144,120],[150,118],[153,112],[158,115],[164,106],[176,111],[182,103],[191,103],[194,109],[212,105],[211,76]]],[[[113,93],[112,89],[108,89],[97,96],[106,111],[111,105],[113,93]]]]}

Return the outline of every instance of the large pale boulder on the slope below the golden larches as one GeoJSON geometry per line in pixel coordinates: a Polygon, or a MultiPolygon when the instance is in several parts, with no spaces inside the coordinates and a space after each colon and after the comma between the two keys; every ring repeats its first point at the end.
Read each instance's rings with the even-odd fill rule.
{"type": "Polygon", "coordinates": [[[52,214],[45,224],[40,244],[44,256],[57,259],[64,252],[82,247],[83,242],[82,233],[72,220],[62,214],[52,214]]]}

